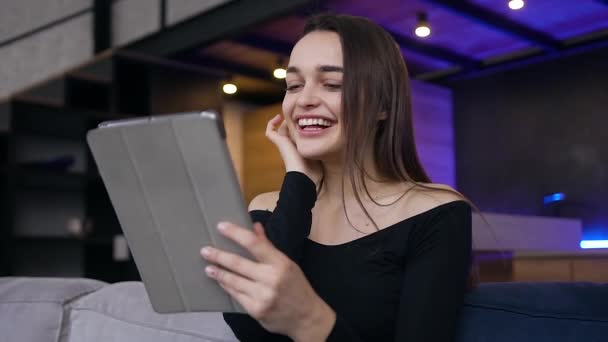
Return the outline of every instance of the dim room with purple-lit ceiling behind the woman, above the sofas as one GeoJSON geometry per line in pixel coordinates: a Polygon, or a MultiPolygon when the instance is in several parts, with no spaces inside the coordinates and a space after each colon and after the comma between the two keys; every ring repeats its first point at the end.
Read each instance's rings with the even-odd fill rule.
{"type": "Polygon", "coordinates": [[[423,165],[490,222],[482,281],[607,282],[608,3],[513,3],[4,1],[0,275],[139,279],[86,146],[102,121],[216,110],[244,200],[277,190],[276,76],[329,10],[399,44],[423,165]]]}

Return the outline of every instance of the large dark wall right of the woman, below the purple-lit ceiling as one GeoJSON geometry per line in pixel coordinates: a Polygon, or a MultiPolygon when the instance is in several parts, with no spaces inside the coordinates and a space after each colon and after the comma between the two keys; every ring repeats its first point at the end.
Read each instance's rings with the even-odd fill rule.
{"type": "Polygon", "coordinates": [[[608,49],[452,86],[461,191],[482,210],[581,216],[608,234],[608,49]],[[566,201],[545,207],[555,192],[566,201]]]}

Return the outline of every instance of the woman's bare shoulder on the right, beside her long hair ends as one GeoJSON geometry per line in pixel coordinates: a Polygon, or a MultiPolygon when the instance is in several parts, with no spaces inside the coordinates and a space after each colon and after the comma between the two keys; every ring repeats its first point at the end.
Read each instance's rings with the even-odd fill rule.
{"type": "Polygon", "coordinates": [[[465,199],[457,190],[446,184],[424,183],[415,187],[412,192],[409,205],[415,213],[465,199]]]}

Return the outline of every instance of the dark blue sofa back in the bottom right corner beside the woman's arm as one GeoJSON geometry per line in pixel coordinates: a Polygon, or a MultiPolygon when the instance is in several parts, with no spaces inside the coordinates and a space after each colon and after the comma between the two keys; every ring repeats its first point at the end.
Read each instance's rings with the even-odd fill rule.
{"type": "Polygon", "coordinates": [[[608,284],[481,284],[459,330],[458,342],[607,342],[608,284]]]}

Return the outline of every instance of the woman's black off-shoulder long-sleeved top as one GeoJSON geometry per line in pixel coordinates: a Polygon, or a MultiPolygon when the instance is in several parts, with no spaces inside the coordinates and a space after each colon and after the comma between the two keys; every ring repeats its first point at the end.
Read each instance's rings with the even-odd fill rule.
{"type": "MultiPolygon", "coordinates": [[[[285,177],[274,212],[256,210],[251,212],[251,216],[253,221],[261,222],[266,227],[271,241],[279,249],[286,251],[286,254],[293,256],[297,262],[304,251],[305,237],[310,232],[309,222],[312,216],[309,211],[314,205],[312,203],[314,186],[312,186],[312,181],[303,174],[294,173],[289,176],[294,177],[285,177]],[[306,187],[306,184],[311,186],[306,187]],[[304,188],[310,190],[309,202],[306,202],[305,197],[301,197],[301,191],[304,188]],[[284,193],[287,195],[283,196],[284,193]],[[296,207],[299,209],[294,209],[296,207]],[[307,209],[302,210],[302,208],[307,209]],[[285,230],[286,227],[288,230],[285,230]]],[[[390,309],[389,317],[395,318],[394,325],[387,324],[387,329],[379,334],[392,336],[394,341],[450,341],[454,338],[463,305],[471,260],[471,208],[466,202],[457,201],[442,205],[435,210],[418,215],[416,218],[404,220],[402,224],[407,227],[387,228],[391,230],[386,231],[387,234],[390,234],[388,236],[395,238],[394,241],[400,241],[399,244],[391,244],[390,252],[399,253],[401,251],[401,257],[398,260],[402,260],[403,264],[400,266],[401,272],[398,277],[393,278],[394,280],[390,280],[390,277],[386,278],[386,281],[394,281],[394,285],[376,283],[381,289],[386,289],[386,286],[389,285],[393,287],[395,290],[391,292],[394,295],[387,292],[388,297],[385,298],[394,298],[391,300],[392,303],[398,302],[398,306],[391,306],[390,309]],[[399,236],[403,236],[403,239],[399,236]]],[[[374,234],[378,237],[378,233],[374,234]]],[[[370,238],[369,241],[378,241],[374,240],[373,236],[370,238]]],[[[331,290],[334,285],[328,286],[336,280],[327,277],[328,267],[336,267],[336,261],[338,264],[344,262],[344,265],[352,265],[348,259],[351,256],[350,253],[367,255],[369,246],[351,245],[354,247],[352,252],[344,253],[346,249],[340,248],[342,252],[339,254],[335,253],[334,247],[326,248],[321,247],[322,245],[308,244],[308,248],[311,246],[316,247],[313,251],[306,249],[307,257],[303,258],[302,262],[315,265],[314,268],[309,269],[309,271],[315,271],[307,276],[311,275],[312,279],[320,281],[318,285],[325,284],[324,288],[330,289],[329,292],[326,292],[328,299],[336,300],[339,297],[336,297],[335,292],[331,290]],[[310,254],[311,252],[313,254],[310,254]],[[324,260],[333,260],[333,262],[330,263],[331,266],[323,266],[324,260]]],[[[377,272],[373,268],[362,270],[358,266],[352,271],[347,271],[346,279],[362,281],[360,279],[361,271],[364,273],[377,272]]],[[[377,279],[377,273],[369,273],[369,277],[369,279],[377,279]],[[372,274],[375,274],[374,278],[371,278],[372,274]]],[[[347,284],[348,281],[343,280],[340,283],[347,284]]],[[[341,292],[344,293],[344,291],[348,292],[349,289],[344,288],[341,292]]],[[[359,310],[349,309],[350,305],[357,305],[358,295],[361,294],[353,292],[349,296],[343,297],[342,300],[347,301],[343,302],[346,303],[344,304],[346,306],[342,306],[342,309],[337,311],[336,323],[327,341],[371,342],[378,340],[371,337],[376,334],[370,330],[370,327],[361,325],[365,324],[365,319],[355,319],[360,317],[359,310]]],[[[378,305],[383,306],[383,304],[378,305]]],[[[290,341],[286,336],[266,331],[256,320],[247,315],[224,314],[224,319],[242,341],[290,341]]]]}

